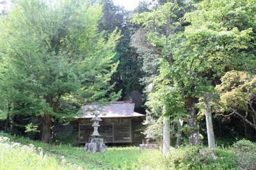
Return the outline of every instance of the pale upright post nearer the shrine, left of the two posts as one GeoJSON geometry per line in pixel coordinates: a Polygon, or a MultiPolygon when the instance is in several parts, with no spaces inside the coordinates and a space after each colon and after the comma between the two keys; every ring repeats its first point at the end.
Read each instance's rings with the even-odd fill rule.
{"type": "Polygon", "coordinates": [[[170,117],[163,118],[163,154],[170,153],[170,117]]]}

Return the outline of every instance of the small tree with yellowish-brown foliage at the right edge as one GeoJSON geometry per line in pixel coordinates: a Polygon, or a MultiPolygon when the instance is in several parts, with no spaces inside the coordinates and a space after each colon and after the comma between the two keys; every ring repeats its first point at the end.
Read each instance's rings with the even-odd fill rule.
{"type": "Polygon", "coordinates": [[[244,71],[228,71],[216,89],[228,116],[237,115],[256,130],[256,76],[244,71]]]}

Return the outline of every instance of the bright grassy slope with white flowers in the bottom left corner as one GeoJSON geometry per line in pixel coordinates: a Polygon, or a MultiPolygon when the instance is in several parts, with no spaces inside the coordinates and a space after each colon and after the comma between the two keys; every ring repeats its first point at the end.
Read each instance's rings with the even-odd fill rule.
{"type": "MultiPolygon", "coordinates": [[[[71,164],[60,164],[54,157],[44,155],[42,150],[33,145],[20,145],[19,143],[9,143],[0,137],[0,169],[5,170],[28,170],[28,169],[79,169],[71,164]],[[4,142],[3,142],[4,141],[4,142]]],[[[8,138],[7,138],[8,139],[8,138]]]]}

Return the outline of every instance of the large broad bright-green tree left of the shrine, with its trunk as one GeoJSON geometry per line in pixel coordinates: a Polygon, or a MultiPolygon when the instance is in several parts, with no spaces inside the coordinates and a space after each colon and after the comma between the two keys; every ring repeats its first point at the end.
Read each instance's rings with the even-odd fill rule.
{"type": "Polygon", "coordinates": [[[120,33],[98,31],[101,17],[102,6],[89,1],[31,0],[17,1],[1,18],[1,74],[17,85],[11,87],[22,107],[42,117],[42,141],[51,141],[54,118],[67,117],[61,104],[76,108],[120,95],[109,83],[120,33]]]}

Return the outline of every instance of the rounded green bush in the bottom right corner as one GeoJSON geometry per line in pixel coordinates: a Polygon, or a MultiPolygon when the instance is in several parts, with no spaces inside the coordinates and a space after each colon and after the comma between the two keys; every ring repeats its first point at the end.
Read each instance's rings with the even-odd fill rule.
{"type": "Polygon", "coordinates": [[[239,169],[256,170],[256,143],[245,139],[233,145],[239,169]]]}

